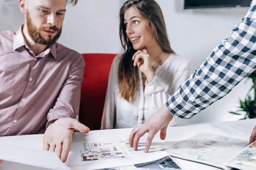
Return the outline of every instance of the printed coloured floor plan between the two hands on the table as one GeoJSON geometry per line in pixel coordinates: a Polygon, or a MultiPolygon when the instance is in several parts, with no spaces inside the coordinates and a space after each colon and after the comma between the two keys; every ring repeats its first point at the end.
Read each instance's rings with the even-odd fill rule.
{"type": "Polygon", "coordinates": [[[128,141],[85,142],[81,161],[132,157],[128,141]]]}

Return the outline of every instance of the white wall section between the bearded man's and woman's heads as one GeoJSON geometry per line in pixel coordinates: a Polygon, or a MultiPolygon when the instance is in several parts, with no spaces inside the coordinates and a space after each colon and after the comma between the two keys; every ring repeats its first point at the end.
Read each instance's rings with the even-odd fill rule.
{"type": "Polygon", "coordinates": [[[80,53],[118,53],[119,0],[79,0],[67,6],[59,43],[80,53]]]}

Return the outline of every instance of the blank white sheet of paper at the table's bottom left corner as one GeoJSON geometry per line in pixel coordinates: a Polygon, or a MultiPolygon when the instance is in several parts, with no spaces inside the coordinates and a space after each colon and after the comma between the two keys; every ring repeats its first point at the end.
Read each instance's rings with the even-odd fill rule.
{"type": "Polygon", "coordinates": [[[71,170],[54,152],[9,145],[1,141],[0,159],[52,170],[71,170]]]}

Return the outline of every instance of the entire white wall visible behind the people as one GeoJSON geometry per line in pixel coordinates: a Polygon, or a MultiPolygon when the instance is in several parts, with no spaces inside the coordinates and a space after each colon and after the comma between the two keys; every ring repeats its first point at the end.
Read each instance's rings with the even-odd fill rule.
{"type": "MultiPolygon", "coordinates": [[[[118,53],[119,8],[125,0],[80,0],[67,7],[63,33],[59,43],[80,53],[118,53]]],[[[212,50],[228,38],[234,24],[239,23],[247,8],[182,10],[182,0],[156,0],[162,8],[173,50],[191,61],[196,70],[212,50]]],[[[3,15],[0,0],[0,30],[16,30],[23,23],[16,0],[10,2],[8,15],[3,15]],[[14,3],[15,2],[15,3],[14,3]]],[[[214,103],[190,120],[180,124],[236,119],[239,99],[244,99],[252,82],[243,81],[222,100],[214,103]]]]}

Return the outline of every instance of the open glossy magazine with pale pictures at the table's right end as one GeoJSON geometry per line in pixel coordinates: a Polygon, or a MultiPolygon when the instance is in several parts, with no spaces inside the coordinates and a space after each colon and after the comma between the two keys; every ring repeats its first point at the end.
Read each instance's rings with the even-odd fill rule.
{"type": "Polygon", "coordinates": [[[230,170],[256,169],[256,142],[222,135],[200,133],[164,149],[172,157],[230,170]]]}

